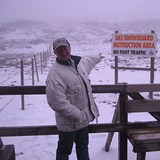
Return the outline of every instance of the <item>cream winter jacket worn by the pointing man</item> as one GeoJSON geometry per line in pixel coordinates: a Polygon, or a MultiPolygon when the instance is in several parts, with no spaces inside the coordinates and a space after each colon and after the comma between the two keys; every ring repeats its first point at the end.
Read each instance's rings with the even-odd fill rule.
{"type": "Polygon", "coordinates": [[[55,111],[59,131],[81,129],[99,116],[88,75],[100,61],[99,55],[71,56],[70,62],[57,59],[51,67],[46,80],[46,96],[55,111]]]}

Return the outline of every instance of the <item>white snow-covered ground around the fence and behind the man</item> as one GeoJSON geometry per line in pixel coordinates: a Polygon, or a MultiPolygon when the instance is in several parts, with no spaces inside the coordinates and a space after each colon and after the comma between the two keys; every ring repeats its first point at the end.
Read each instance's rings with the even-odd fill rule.
{"type": "MultiPolygon", "coordinates": [[[[105,28],[103,28],[105,30],[105,28]]],[[[94,31],[94,29],[93,29],[94,31]]],[[[18,31],[17,31],[18,32],[18,31]]],[[[101,63],[96,65],[90,74],[92,84],[114,84],[114,70],[111,66],[114,65],[114,58],[110,55],[111,45],[110,43],[102,43],[105,39],[110,38],[110,33],[107,31],[104,35],[99,36],[93,32],[86,31],[81,33],[81,28],[76,30],[76,34],[80,37],[74,42],[73,33],[67,37],[71,40],[72,53],[80,56],[87,54],[95,54],[102,52],[105,59],[101,63]],[[106,38],[106,35],[108,37],[106,38]],[[81,40],[81,41],[80,41],[81,40]]],[[[97,33],[98,30],[97,30],[97,33]]],[[[58,36],[66,36],[67,34],[60,33],[58,36]]],[[[39,48],[39,52],[44,49],[44,46],[39,48]]],[[[46,46],[47,48],[47,46],[46,46]]],[[[20,49],[19,49],[20,50],[20,49]]],[[[38,48],[36,48],[36,53],[38,48]]],[[[28,52],[28,51],[27,51],[28,52]]],[[[23,51],[23,53],[27,53],[23,51]]],[[[15,50],[14,50],[14,53],[15,50]]],[[[7,53],[6,53],[7,54],[7,53]]],[[[12,58],[12,63],[9,63],[6,56],[0,54],[0,85],[11,86],[20,85],[20,68],[19,62],[22,58],[21,54],[7,54],[7,58],[12,58]],[[12,64],[12,65],[11,65],[12,64]]],[[[31,55],[23,55],[24,61],[31,59],[31,55]]],[[[120,58],[121,66],[131,67],[149,67],[150,61],[148,58],[120,58]]],[[[155,60],[155,83],[160,83],[160,56],[155,60]]],[[[35,85],[45,85],[48,70],[51,63],[45,68],[43,74],[39,71],[39,79],[37,82],[35,78],[35,85]]],[[[25,85],[32,85],[31,67],[25,65],[25,85]]],[[[119,70],[119,82],[127,82],[130,84],[142,84],[150,82],[149,71],[133,71],[133,70],[119,70]]],[[[148,97],[148,93],[144,94],[148,97]]],[[[160,98],[160,94],[155,94],[155,98],[160,98]]],[[[115,105],[118,99],[118,94],[94,94],[95,101],[100,110],[100,123],[110,123],[115,110],[115,105]]],[[[151,120],[152,117],[149,114],[130,114],[130,120],[151,120]]],[[[94,122],[93,122],[94,123],[94,122]]],[[[0,96],[0,126],[28,126],[28,125],[54,125],[54,111],[48,106],[45,95],[26,95],[25,96],[25,110],[21,110],[21,97],[20,96],[0,96]]],[[[105,152],[104,146],[108,133],[90,134],[90,158],[91,160],[116,160],[118,159],[118,137],[115,133],[111,148],[109,152],[105,152]]],[[[55,159],[55,152],[57,146],[57,135],[50,136],[26,136],[26,137],[3,137],[4,144],[14,144],[17,160],[53,160],[55,159]]],[[[132,146],[128,143],[128,159],[135,160],[136,154],[132,152],[132,146]]],[[[152,152],[147,153],[146,160],[159,160],[160,153],[152,152]]],[[[76,160],[75,149],[70,156],[70,160],[76,160]]]]}

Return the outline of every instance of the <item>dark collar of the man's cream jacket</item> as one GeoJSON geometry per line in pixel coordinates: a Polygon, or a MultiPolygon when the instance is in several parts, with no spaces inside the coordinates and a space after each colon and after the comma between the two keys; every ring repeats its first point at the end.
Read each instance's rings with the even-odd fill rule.
{"type": "MultiPolygon", "coordinates": [[[[75,65],[77,66],[78,63],[81,60],[81,57],[71,55],[71,59],[75,62],[75,65]]],[[[71,60],[70,59],[68,61],[62,61],[62,60],[56,58],[56,62],[59,63],[59,64],[62,64],[62,65],[71,66],[71,60]]]]}

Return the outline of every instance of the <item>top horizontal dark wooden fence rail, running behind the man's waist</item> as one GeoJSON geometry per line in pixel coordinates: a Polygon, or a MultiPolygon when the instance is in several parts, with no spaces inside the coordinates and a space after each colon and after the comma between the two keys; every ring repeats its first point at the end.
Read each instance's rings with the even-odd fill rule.
{"type": "MultiPolygon", "coordinates": [[[[1,86],[0,95],[45,94],[46,86],[1,86]]],[[[92,85],[93,93],[158,92],[160,84],[92,85]]]]}

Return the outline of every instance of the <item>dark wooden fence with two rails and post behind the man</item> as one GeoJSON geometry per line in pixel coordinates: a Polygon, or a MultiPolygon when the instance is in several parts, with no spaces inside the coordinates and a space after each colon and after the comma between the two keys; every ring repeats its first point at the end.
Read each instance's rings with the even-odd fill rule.
{"type": "MultiPolygon", "coordinates": [[[[116,85],[93,85],[93,93],[119,93],[120,107],[119,107],[119,122],[118,123],[103,123],[90,124],[89,133],[101,132],[118,132],[118,159],[127,160],[127,137],[126,129],[139,127],[160,127],[158,122],[137,122],[127,123],[125,114],[125,99],[128,93],[135,92],[158,92],[160,91],[160,84],[116,84],[116,85]]],[[[31,94],[45,94],[45,86],[1,86],[0,95],[31,95],[31,94]]],[[[0,127],[0,137],[8,136],[33,136],[33,135],[55,135],[57,134],[55,125],[46,126],[14,126],[14,127],[0,127]]]]}

